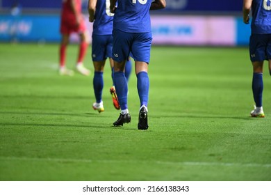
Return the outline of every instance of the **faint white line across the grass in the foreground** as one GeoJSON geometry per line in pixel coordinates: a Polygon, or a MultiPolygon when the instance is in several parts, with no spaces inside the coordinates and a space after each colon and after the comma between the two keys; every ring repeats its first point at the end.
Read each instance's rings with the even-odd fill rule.
{"type": "MultiPolygon", "coordinates": [[[[83,163],[146,163],[149,161],[133,161],[133,160],[92,160],[92,159],[58,159],[58,158],[35,158],[35,157],[0,157],[1,160],[24,160],[24,161],[48,161],[48,162],[83,162],[83,163]]],[[[172,164],[182,166],[243,166],[243,167],[267,167],[271,164],[256,164],[256,163],[226,163],[226,162],[164,162],[151,161],[155,164],[172,164]]]]}

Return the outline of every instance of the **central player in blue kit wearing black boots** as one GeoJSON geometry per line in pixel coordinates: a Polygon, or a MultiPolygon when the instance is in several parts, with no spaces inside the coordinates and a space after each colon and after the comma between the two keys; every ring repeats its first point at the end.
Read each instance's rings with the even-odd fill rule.
{"type": "Polygon", "coordinates": [[[151,19],[149,10],[165,8],[165,0],[110,0],[113,20],[114,82],[121,113],[114,126],[131,122],[128,110],[128,86],[124,76],[125,62],[131,52],[136,65],[140,111],[138,130],[148,129],[149,76],[148,65],[151,50],[151,19]]]}

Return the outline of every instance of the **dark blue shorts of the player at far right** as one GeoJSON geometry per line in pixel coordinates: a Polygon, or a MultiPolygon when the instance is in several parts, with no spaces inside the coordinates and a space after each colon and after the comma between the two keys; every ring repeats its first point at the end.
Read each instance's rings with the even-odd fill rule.
{"type": "Polygon", "coordinates": [[[271,59],[271,34],[252,34],[249,38],[250,61],[271,59]]]}

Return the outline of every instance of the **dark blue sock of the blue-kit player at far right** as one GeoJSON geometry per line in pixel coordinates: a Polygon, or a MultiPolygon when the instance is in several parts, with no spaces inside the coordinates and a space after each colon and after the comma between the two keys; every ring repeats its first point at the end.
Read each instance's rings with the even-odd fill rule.
{"type": "Polygon", "coordinates": [[[263,73],[254,72],[252,78],[252,91],[256,107],[262,107],[263,99],[263,73]]]}

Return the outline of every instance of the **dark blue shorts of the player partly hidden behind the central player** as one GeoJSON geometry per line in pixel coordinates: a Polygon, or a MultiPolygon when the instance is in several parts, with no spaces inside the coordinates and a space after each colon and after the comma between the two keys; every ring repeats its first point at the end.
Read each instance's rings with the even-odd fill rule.
{"type": "Polygon", "coordinates": [[[106,36],[92,35],[92,61],[104,61],[107,58],[106,36]]]}

